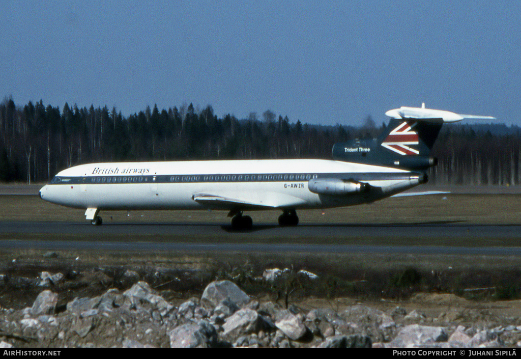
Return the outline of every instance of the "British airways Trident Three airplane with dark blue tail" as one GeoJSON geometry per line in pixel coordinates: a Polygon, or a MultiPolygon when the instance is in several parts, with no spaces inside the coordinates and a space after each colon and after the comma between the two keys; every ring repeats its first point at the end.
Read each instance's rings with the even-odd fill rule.
{"type": "Polygon", "coordinates": [[[296,210],[367,204],[428,181],[437,164],[429,157],[442,124],[464,118],[421,107],[386,112],[389,125],[375,140],[336,143],[332,160],[211,160],[90,163],[56,174],[40,197],[61,206],[85,209],[101,225],[100,211],[228,211],[232,229],[248,230],[245,211],[279,209],[281,226],[299,223],[296,210]]]}

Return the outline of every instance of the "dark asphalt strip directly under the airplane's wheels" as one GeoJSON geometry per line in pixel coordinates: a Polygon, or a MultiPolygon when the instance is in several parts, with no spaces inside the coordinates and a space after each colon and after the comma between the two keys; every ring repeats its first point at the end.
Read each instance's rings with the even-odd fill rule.
{"type": "Polygon", "coordinates": [[[245,234],[251,237],[302,236],[324,237],[477,237],[520,238],[521,225],[465,224],[461,222],[426,222],[395,224],[321,224],[305,223],[294,227],[257,224],[252,230],[233,231],[231,225],[219,223],[104,223],[93,226],[83,222],[0,222],[0,233],[45,234],[121,234],[121,235],[224,235],[245,234]]]}

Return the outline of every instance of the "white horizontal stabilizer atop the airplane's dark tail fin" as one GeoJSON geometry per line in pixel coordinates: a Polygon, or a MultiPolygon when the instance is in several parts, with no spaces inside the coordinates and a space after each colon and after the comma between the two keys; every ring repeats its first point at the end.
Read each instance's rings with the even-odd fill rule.
{"type": "Polygon", "coordinates": [[[386,115],[397,119],[416,119],[417,121],[445,123],[458,122],[464,118],[473,119],[495,119],[491,116],[460,115],[450,111],[425,109],[425,107],[400,107],[389,110],[386,115]]]}

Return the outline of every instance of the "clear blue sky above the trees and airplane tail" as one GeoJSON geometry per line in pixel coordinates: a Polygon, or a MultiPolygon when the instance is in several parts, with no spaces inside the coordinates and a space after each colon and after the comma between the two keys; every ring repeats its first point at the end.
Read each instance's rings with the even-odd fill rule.
{"type": "Polygon", "coordinates": [[[515,1],[4,0],[0,96],[332,125],[425,102],[521,125],[519,23],[515,1]]]}

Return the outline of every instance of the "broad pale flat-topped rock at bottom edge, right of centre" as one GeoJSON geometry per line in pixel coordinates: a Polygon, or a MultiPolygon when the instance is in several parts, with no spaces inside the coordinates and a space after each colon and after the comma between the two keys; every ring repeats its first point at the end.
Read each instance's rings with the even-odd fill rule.
{"type": "Polygon", "coordinates": [[[408,325],[391,341],[392,348],[415,348],[444,342],[448,339],[445,328],[408,325]]]}

